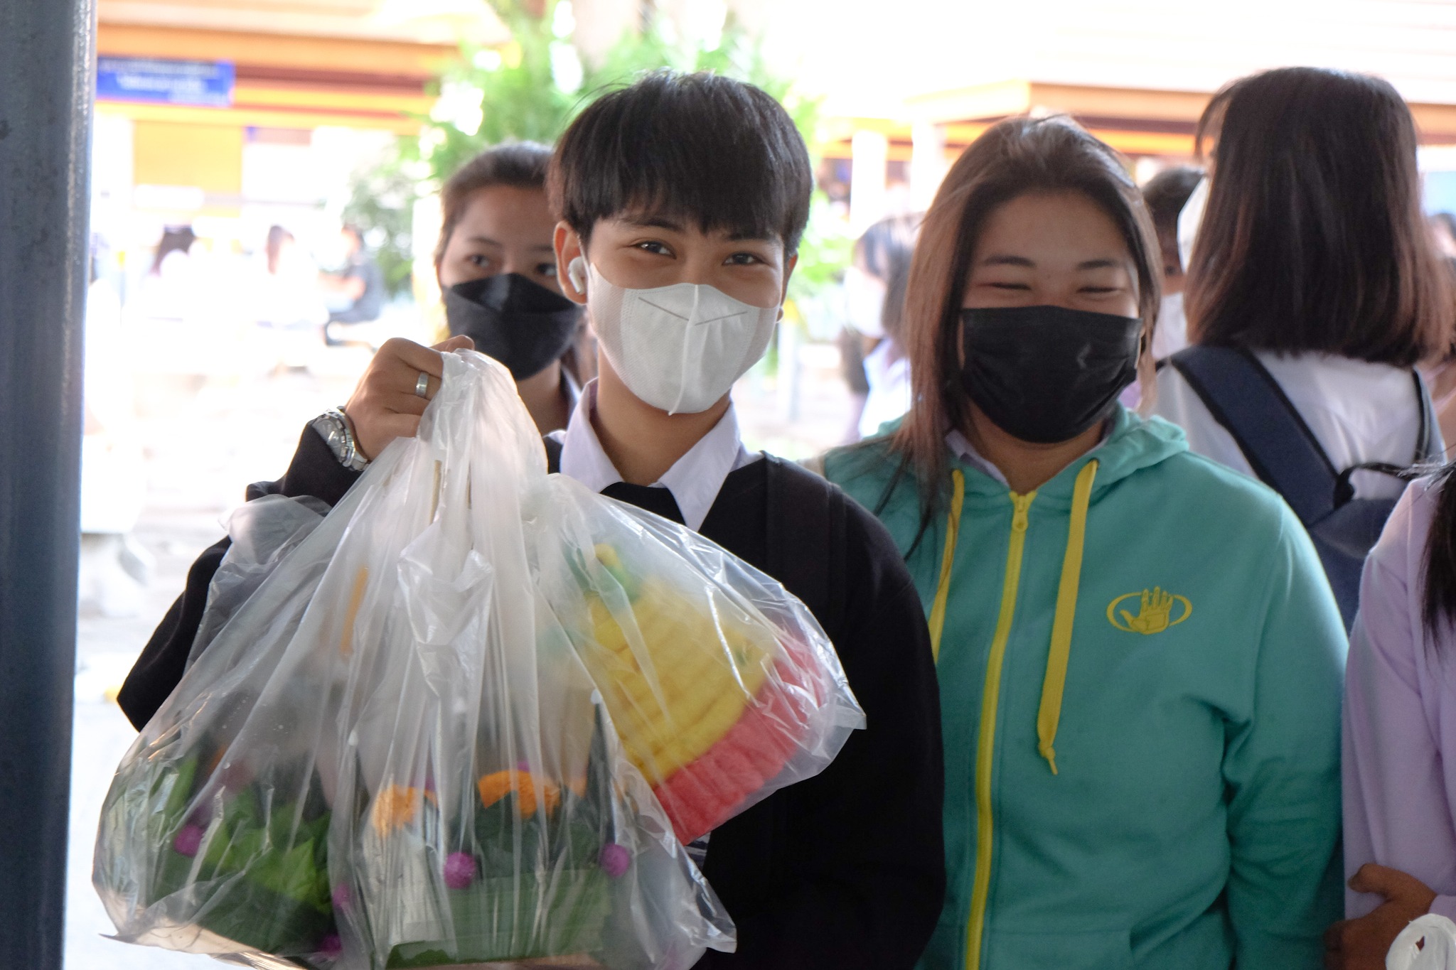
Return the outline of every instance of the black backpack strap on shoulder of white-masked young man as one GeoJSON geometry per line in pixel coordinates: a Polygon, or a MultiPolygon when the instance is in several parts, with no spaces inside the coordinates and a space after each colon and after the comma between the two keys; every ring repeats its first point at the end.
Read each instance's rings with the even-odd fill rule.
{"type": "Polygon", "coordinates": [[[767,462],[767,572],[834,637],[844,615],[844,493],[776,455],[767,462]]]}

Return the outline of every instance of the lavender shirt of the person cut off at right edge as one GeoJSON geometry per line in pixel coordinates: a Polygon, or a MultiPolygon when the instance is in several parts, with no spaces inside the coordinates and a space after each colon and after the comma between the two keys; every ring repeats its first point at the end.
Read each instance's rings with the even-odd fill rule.
{"type": "MultiPolygon", "coordinates": [[[[1433,646],[1421,621],[1434,497],[1427,483],[1412,484],[1366,561],[1345,672],[1345,878],[1366,862],[1398,868],[1441,893],[1433,912],[1450,916],[1456,826],[1441,750],[1456,750],[1456,698],[1443,704],[1443,660],[1456,665],[1456,640],[1433,646]]],[[[1345,915],[1363,916],[1380,902],[1347,890],[1345,915]]]]}

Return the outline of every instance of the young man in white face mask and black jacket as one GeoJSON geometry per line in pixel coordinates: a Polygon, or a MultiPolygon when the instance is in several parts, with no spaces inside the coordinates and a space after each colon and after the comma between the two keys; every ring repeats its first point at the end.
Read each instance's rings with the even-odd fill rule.
{"type": "MultiPolygon", "coordinates": [[[[868,729],[820,775],[690,846],[738,929],[699,967],[909,969],[941,912],[939,694],[920,598],[890,534],[836,486],[738,438],[729,390],[764,352],[808,218],[804,141],[764,92],[658,73],[606,95],[552,160],[562,292],[590,310],[600,377],[559,470],[693,528],[802,599],[828,633],[868,729]],[[703,843],[706,842],[706,843],[703,843]]],[[[392,342],[345,406],[252,494],[336,502],[367,458],[412,435],[440,350],[392,342]],[[416,390],[424,394],[416,396],[416,390]]],[[[122,691],[143,724],[181,678],[226,540],[194,566],[122,691]]]]}

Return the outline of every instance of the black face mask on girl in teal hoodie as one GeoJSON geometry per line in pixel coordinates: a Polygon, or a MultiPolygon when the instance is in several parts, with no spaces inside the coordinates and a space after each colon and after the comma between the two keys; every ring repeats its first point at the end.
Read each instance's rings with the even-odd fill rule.
{"type": "Polygon", "coordinates": [[[1112,413],[1137,377],[1143,321],[1066,307],[962,310],[961,385],[1008,435],[1070,441],[1112,413]]]}

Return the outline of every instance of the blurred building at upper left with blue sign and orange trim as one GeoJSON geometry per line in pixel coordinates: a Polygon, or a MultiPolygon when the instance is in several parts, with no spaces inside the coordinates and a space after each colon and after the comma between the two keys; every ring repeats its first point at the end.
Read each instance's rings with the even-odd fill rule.
{"type": "Polygon", "coordinates": [[[170,224],[211,252],[275,223],[325,246],[460,41],[507,39],[480,0],[100,0],[93,228],[132,278],[170,224]]]}

